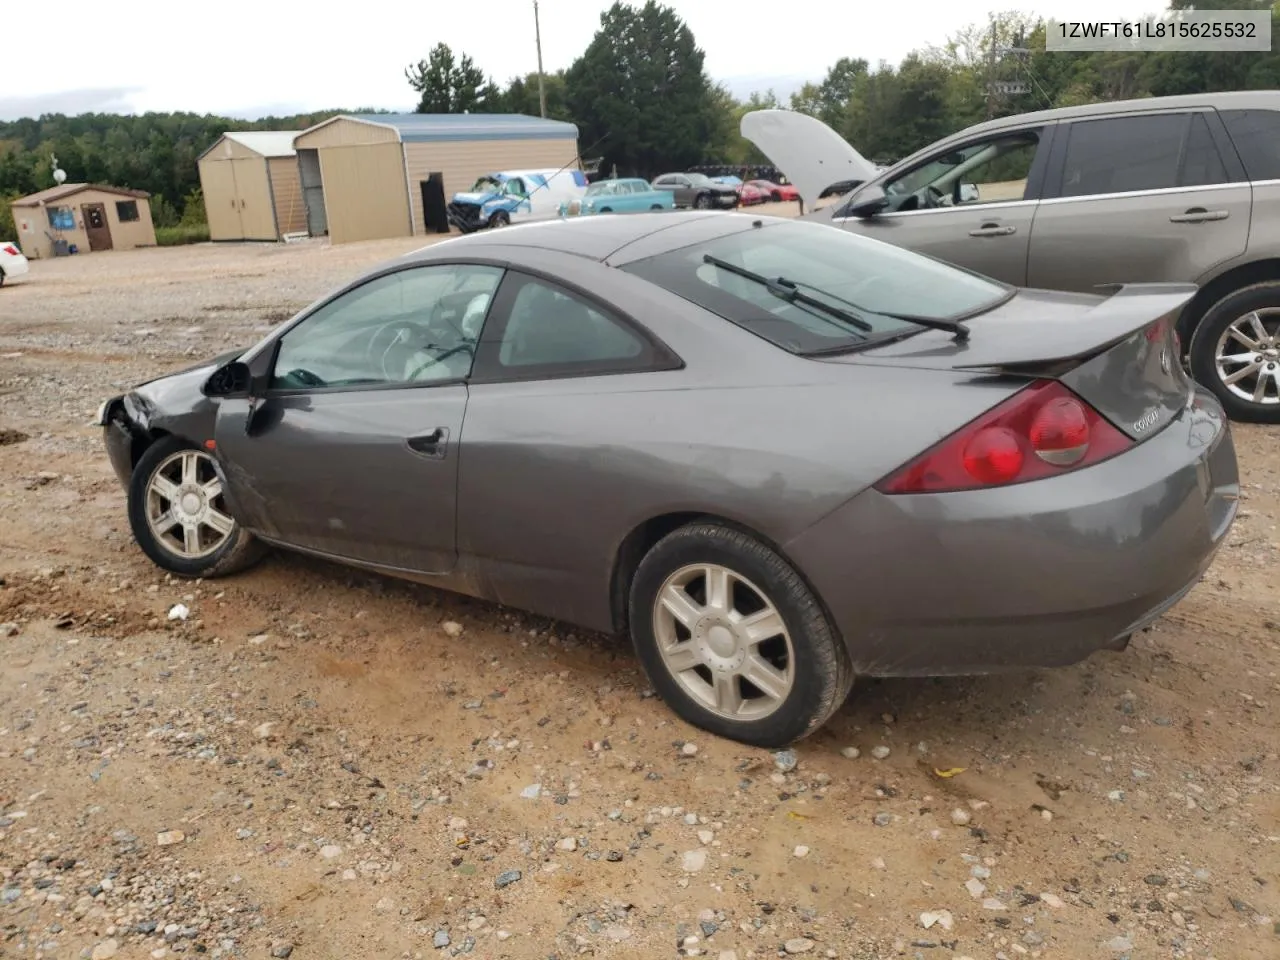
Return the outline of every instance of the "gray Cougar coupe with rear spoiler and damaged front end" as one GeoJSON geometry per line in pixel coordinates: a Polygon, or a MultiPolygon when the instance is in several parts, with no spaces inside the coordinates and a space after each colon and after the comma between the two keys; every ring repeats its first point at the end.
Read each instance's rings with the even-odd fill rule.
{"type": "Polygon", "coordinates": [[[814,223],[636,214],[448,239],[106,401],[142,550],[268,545],[630,634],[762,746],[855,676],[1120,649],[1235,517],[1189,284],[1021,291],[814,223]]]}

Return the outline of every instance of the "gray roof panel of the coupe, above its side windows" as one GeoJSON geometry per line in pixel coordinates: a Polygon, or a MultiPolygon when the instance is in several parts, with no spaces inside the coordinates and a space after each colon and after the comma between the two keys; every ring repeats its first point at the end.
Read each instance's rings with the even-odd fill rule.
{"type": "Polygon", "coordinates": [[[525,247],[571,253],[603,262],[616,259],[623,247],[639,241],[654,238],[644,244],[645,255],[652,256],[663,252],[663,250],[677,250],[701,239],[750,229],[751,224],[756,221],[771,220],[791,221],[788,218],[744,216],[719,210],[681,210],[628,214],[626,216],[541,220],[506,227],[500,230],[477,230],[465,237],[453,237],[422,247],[410,253],[408,259],[429,261],[466,255],[483,256],[486,251],[495,252],[495,248],[525,247]],[[655,238],[655,234],[662,234],[660,241],[655,238]]]}

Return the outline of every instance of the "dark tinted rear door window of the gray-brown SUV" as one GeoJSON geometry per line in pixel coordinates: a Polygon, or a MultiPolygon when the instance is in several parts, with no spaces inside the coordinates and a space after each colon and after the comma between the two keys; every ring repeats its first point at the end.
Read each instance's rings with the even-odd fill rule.
{"type": "Polygon", "coordinates": [[[1198,187],[1228,180],[1199,114],[1149,114],[1070,124],[1064,197],[1198,187]]]}

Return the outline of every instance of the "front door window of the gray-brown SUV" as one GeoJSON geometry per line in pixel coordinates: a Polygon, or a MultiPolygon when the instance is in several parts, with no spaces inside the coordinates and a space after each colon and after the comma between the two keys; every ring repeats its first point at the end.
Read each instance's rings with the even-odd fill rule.
{"type": "Polygon", "coordinates": [[[890,180],[891,210],[929,210],[1023,200],[1041,132],[1018,131],[966,143],[890,180]]]}

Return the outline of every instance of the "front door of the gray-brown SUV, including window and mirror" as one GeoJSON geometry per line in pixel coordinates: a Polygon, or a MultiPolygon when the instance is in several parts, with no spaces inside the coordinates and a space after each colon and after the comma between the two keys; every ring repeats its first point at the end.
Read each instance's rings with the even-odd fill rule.
{"type": "Polygon", "coordinates": [[[883,210],[835,223],[1023,285],[1053,131],[1015,127],[952,143],[884,180],[883,210]]]}

